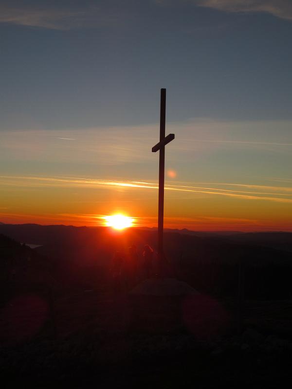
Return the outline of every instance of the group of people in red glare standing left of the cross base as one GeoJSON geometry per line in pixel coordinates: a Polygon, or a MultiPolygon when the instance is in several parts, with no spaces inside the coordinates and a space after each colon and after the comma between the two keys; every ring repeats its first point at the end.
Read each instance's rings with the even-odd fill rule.
{"type": "Polygon", "coordinates": [[[118,292],[122,287],[130,289],[139,281],[151,277],[155,271],[153,257],[154,251],[149,245],[144,246],[142,257],[135,245],[128,248],[127,254],[116,251],[110,267],[114,291],[118,292]]]}

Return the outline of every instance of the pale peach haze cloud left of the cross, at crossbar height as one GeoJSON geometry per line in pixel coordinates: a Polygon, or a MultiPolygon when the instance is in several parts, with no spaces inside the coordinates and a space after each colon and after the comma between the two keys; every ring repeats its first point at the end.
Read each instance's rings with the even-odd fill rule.
{"type": "Polygon", "coordinates": [[[149,139],[149,132],[157,133],[157,128],[0,131],[0,157],[61,163],[78,160],[100,166],[151,162],[155,160],[151,147],[157,139],[149,139]]]}

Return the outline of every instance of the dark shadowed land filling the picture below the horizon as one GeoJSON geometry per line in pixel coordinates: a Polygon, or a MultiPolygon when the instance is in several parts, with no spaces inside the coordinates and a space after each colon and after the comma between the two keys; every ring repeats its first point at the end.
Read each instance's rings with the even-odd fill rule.
{"type": "MultiPolygon", "coordinates": [[[[151,243],[152,233],[141,232],[136,239],[151,243]]],[[[109,236],[98,245],[87,238],[83,246],[75,235],[70,245],[69,238],[60,241],[57,235],[60,239],[51,234],[50,240],[44,234],[47,243],[18,236],[20,242],[42,244],[34,250],[0,236],[4,388],[275,388],[292,383],[291,278],[281,277],[282,270],[290,274],[291,254],[275,248],[275,239],[269,248],[263,236],[258,245],[244,245],[241,237],[238,243],[176,233],[170,239],[176,253],[182,242],[183,250],[190,250],[173,260],[170,276],[192,284],[199,294],[176,301],[141,299],[137,305],[126,285],[114,294],[110,283],[106,259],[121,241],[109,236]],[[202,265],[198,253],[203,252],[202,265]],[[241,258],[245,289],[239,300],[238,256],[231,262],[235,253],[246,258],[241,258]],[[280,283],[279,293],[275,284],[280,283]],[[155,304],[160,309],[154,312],[155,304]]],[[[281,237],[280,245],[290,242],[281,237]]]]}

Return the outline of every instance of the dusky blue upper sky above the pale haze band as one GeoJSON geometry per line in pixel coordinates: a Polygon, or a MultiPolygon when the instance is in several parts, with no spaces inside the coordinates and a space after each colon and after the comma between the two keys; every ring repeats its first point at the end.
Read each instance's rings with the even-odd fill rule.
{"type": "Polygon", "coordinates": [[[161,87],[168,121],[291,119],[291,20],[197,3],[10,1],[1,129],[156,123],[161,87]]]}

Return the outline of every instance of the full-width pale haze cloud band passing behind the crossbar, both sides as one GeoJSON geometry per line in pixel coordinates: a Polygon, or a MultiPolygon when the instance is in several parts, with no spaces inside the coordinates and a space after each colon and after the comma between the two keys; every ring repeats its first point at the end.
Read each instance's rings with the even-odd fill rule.
{"type": "MultiPolygon", "coordinates": [[[[181,163],[193,161],[214,150],[235,147],[241,150],[287,154],[292,146],[292,121],[226,122],[211,119],[169,123],[167,130],[176,140],[167,148],[168,160],[181,163]],[[196,157],[194,155],[196,151],[196,157]]],[[[68,130],[0,129],[0,156],[4,160],[41,160],[46,162],[94,163],[121,165],[152,163],[151,153],[158,141],[158,127],[154,124],[138,126],[96,127],[68,130]]]]}

